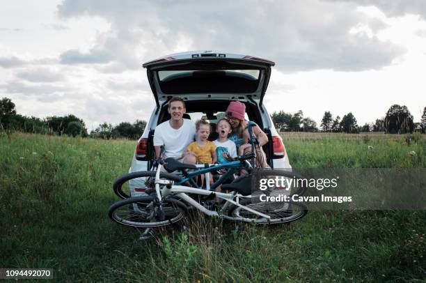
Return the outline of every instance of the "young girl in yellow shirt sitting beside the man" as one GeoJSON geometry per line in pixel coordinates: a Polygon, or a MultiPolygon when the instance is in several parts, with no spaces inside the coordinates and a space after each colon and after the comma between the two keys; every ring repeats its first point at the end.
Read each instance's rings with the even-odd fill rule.
{"type": "MultiPolygon", "coordinates": [[[[197,159],[197,164],[212,164],[217,161],[216,145],[207,140],[211,127],[206,120],[207,117],[203,117],[196,122],[197,141],[189,144],[187,151],[184,153],[184,155],[194,155],[197,159]]],[[[204,178],[202,178],[202,181],[204,183],[204,178]]],[[[212,184],[213,178],[210,176],[210,185],[212,184]]]]}

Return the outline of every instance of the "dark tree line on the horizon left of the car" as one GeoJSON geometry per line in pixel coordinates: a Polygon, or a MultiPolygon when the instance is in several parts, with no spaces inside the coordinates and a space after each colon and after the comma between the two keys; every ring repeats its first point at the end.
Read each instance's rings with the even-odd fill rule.
{"type": "Polygon", "coordinates": [[[146,122],[136,120],[134,123],[122,122],[116,126],[104,122],[90,134],[83,119],[68,114],[66,116],[49,116],[40,119],[17,114],[15,103],[9,98],[0,100],[0,132],[14,131],[31,132],[43,135],[68,135],[70,137],[93,137],[100,139],[139,139],[146,122]]]}

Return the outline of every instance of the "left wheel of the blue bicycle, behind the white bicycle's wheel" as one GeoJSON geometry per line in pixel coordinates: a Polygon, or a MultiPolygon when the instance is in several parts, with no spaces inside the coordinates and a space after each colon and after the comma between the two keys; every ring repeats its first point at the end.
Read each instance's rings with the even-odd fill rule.
{"type": "MultiPolygon", "coordinates": [[[[126,174],[114,182],[113,190],[120,199],[127,199],[135,192],[143,193],[145,190],[154,189],[155,174],[157,174],[156,171],[139,171],[126,174]]],[[[181,179],[180,176],[166,172],[161,172],[160,178],[171,181],[180,181],[181,179]]]]}

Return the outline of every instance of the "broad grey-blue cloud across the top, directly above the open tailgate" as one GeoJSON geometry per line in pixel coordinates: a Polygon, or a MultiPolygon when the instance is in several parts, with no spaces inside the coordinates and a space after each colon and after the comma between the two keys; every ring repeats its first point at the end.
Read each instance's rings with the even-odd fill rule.
{"type": "Polygon", "coordinates": [[[290,1],[261,5],[260,1],[94,0],[64,1],[58,7],[67,19],[93,15],[111,22],[113,32],[104,38],[102,47],[130,68],[139,67],[135,55],[148,60],[182,49],[263,55],[274,58],[280,63],[277,68],[286,71],[381,68],[404,52],[372,32],[364,37],[349,33],[359,22],[379,29],[379,20],[350,5],[317,0],[304,5],[290,1]]]}

